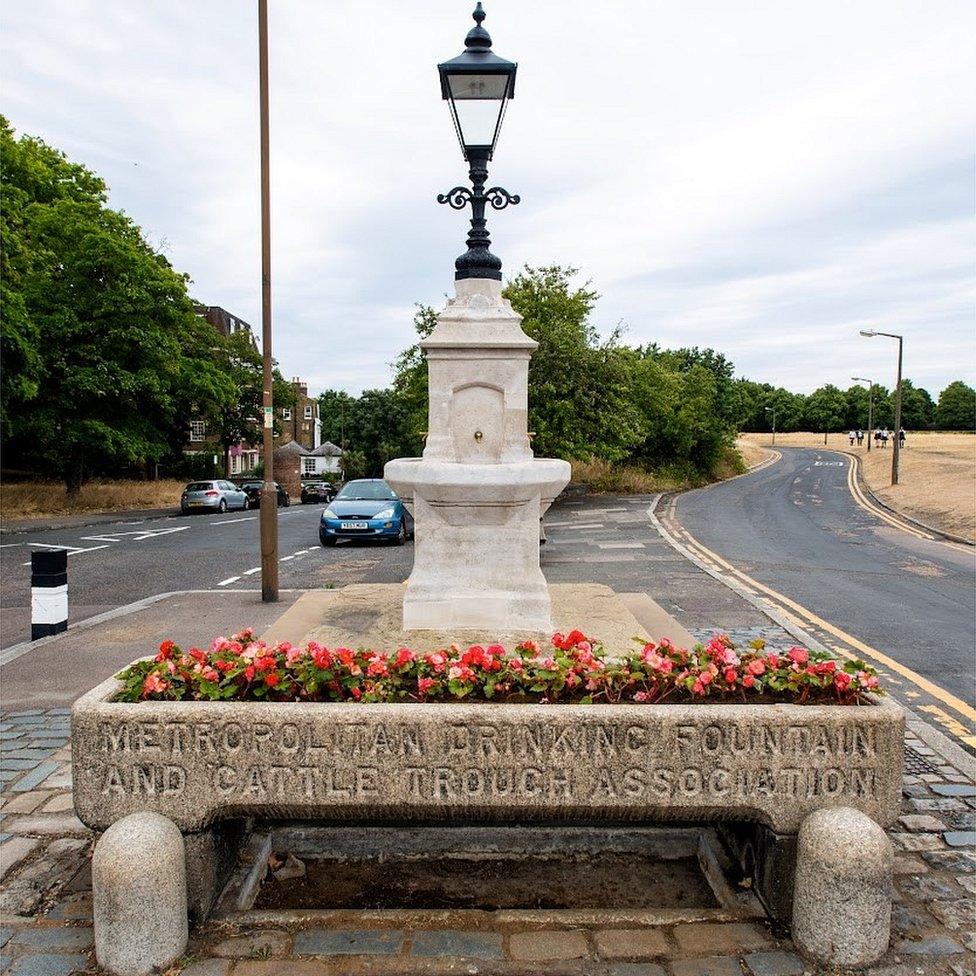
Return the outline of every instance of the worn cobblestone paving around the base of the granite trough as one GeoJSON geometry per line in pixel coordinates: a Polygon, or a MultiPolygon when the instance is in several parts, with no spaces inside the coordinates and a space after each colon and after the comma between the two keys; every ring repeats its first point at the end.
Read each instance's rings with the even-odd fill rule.
{"type": "MultiPolygon", "coordinates": [[[[733,633],[792,639],[775,628],[733,633]]],[[[701,636],[708,636],[705,631],[701,636]]],[[[696,636],[699,636],[696,634],[696,636]]],[[[71,805],[66,709],[0,717],[0,972],[96,972],[92,953],[93,837],[71,805]]],[[[871,976],[972,976],[976,915],[976,784],[921,739],[906,737],[892,950],[871,976]]],[[[852,852],[856,856],[856,852],[852,852]]],[[[465,913],[454,913],[454,923],[465,913]]],[[[805,966],[789,941],[753,923],[661,926],[520,925],[511,912],[446,928],[397,929],[343,913],[329,926],[213,922],[194,933],[184,976],[565,974],[790,976],[805,966]]]]}

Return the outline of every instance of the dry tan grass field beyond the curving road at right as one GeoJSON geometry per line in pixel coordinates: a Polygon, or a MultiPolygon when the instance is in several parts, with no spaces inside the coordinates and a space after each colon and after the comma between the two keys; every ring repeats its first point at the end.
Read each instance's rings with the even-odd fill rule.
{"type": "MultiPolygon", "coordinates": [[[[743,434],[740,444],[768,447],[769,434],[743,434]]],[[[824,435],[777,434],[776,446],[823,447],[824,435]]],[[[827,447],[861,458],[864,480],[887,505],[937,529],[976,539],[976,436],[909,432],[899,462],[899,484],[891,485],[891,445],[887,450],[855,447],[846,432],[828,434],[827,447]]]]}

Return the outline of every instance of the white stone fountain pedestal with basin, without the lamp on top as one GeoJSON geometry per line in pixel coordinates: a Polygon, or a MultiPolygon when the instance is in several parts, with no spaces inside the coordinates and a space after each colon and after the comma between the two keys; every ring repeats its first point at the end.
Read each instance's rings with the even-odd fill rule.
{"type": "Polygon", "coordinates": [[[457,297],[421,343],[430,393],[424,455],[390,461],[384,471],[415,518],[406,630],[551,628],[539,520],[570,466],[532,456],[528,370],[536,345],[501,297],[501,282],[490,279],[457,282],[457,297]]]}

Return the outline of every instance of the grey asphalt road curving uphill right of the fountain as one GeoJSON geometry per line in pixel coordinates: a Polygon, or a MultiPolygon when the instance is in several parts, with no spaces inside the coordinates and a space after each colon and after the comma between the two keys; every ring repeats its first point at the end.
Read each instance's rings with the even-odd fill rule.
{"type": "Polygon", "coordinates": [[[754,580],[972,703],[976,553],[858,507],[843,455],[778,450],[769,467],[678,496],[678,523],[754,580]]]}

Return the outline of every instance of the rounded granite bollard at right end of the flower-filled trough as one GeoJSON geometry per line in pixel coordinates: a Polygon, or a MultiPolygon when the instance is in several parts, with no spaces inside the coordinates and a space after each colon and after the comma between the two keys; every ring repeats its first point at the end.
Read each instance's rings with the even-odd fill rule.
{"type": "Polygon", "coordinates": [[[793,941],[830,966],[867,966],[888,950],[893,855],[885,832],[850,809],[817,810],[801,824],[793,941]]]}

